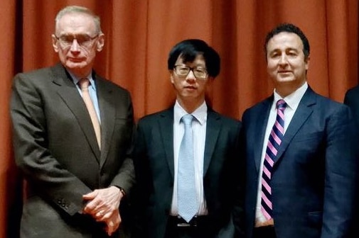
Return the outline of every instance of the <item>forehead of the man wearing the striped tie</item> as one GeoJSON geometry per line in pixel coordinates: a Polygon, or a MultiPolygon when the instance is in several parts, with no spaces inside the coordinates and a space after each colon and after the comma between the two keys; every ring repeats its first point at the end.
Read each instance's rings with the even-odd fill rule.
{"type": "Polygon", "coordinates": [[[296,33],[282,32],[274,35],[267,44],[267,52],[273,50],[296,49],[303,50],[303,42],[296,33]]]}

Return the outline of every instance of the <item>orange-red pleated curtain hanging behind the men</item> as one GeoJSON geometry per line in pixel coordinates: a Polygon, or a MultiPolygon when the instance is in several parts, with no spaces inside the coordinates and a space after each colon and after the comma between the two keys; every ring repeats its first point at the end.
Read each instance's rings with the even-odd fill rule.
{"type": "Polygon", "coordinates": [[[309,84],[336,101],[358,84],[358,0],[17,0],[0,2],[0,237],[16,237],[21,177],[12,156],[11,80],[17,72],[57,62],[50,35],[67,5],[102,18],[105,49],[95,70],[132,93],[136,119],[171,105],[167,56],[176,42],[201,38],[220,53],[221,72],[208,98],[216,111],[240,119],[272,93],[263,43],[291,22],[311,43],[309,84]]]}

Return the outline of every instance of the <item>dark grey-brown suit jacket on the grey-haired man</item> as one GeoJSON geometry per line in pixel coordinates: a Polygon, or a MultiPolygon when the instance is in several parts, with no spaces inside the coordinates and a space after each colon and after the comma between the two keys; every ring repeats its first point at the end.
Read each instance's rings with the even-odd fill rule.
{"type": "Polygon", "coordinates": [[[101,152],[85,103],[61,64],[14,78],[14,152],[27,183],[23,237],[105,236],[101,224],[78,213],[82,195],[112,185],[129,193],[134,183],[131,97],[97,74],[92,77],[101,113],[101,152]]]}

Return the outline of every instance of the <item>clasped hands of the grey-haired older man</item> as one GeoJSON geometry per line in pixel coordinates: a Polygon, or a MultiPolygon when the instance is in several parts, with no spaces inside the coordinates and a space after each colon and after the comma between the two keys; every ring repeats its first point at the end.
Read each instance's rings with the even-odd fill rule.
{"type": "Polygon", "coordinates": [[[96,189],[82,196],[88,201],[83,213],[91,215],[97,222],[105,222],[106,232],[111,236],[121,224],[119,203],[122,197],[123,193],[115,186],[96,189]]]}

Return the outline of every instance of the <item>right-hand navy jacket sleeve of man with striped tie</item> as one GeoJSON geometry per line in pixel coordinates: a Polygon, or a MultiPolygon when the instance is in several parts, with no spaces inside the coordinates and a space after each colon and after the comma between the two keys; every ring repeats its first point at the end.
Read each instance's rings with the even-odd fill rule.
{"type": "Polygon", "coordinates": [[[346,106],[328,119],[321,237],[348,237],[356,215],[358,133],[346,106]]]}

